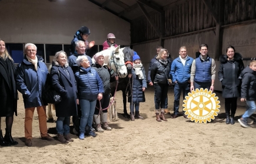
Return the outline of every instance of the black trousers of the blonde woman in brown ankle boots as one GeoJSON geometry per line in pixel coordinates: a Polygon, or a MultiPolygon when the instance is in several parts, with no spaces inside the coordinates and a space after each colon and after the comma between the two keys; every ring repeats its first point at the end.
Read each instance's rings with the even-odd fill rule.
{"type": "Polygon", "coordinates": [[[161,107],[161,109],[164,109],[169,85],[155,83],[154,86],[155,86],[155,97],[156,97],[155,98],[155,109],[159,110],[160,107],[161,107]]]}

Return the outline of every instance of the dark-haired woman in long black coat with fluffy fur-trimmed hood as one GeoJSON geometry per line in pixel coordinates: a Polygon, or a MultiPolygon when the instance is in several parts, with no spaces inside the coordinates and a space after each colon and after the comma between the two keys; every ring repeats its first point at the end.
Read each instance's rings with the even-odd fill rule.
{"type": "Polygon", "coordinates": [[[241,93],[241,73],[244,70],[242,56],[235,53],[235,47],[227,47],[227,55],[220,57],[219,80],[222,84],[222,97],[225,98],[226,124],[235,124],[235,111],[237,110],[237,97],[241,93]],[[231,119],[230,119],[231,110],[231,119]]]}

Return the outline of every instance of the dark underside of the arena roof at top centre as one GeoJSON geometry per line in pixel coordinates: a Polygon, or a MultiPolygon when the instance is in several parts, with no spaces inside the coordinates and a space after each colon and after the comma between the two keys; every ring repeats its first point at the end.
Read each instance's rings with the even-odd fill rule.
{"type": "MultiPolygon", "coordinates": [[[[178,5],[186,0],[88,0],[122,19],[131,22],[144,16],[144,12],[163,12],[164,8],[178,5]],[[145,9],[142,12],[143,8],[145,9]]],[[[187,0],[188,1],[188,0],[187,0]]]]}

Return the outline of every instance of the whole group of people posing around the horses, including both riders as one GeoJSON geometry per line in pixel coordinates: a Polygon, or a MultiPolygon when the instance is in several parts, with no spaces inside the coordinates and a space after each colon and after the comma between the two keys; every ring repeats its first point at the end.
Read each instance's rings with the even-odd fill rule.
{"type": "MultiPolygon", "coordinates": [[[[24,59],[15,69],[14,61],[5,49],[5,42],[0,39],[0,118],[6,117],[5,136],[2,135],[2,130],[0,131],[1,146],[18,144],[11,135],[14,114],[17,115],[17,90],[24,99],[25,145],[32,146],[32,119],[35,107],[41,139],[54,140],[47,132],[47,102],[41,98],[47,78],[51,79],[52,88],[62,98],[59,104],[55,104],[58,141],[74,141],[69,135],[71,116],[73,122],[79,119],[79,139],[84,139],[85,135],[96,136],[92,128],[93,121],[98,132],[111,131],[112,128],[107,122],[107,110],[102,111],[102,118],[99,112],[100,108],[108,107],[111,97],[110,83],[118,80],[118,76],[111,76],[101,52],[94,55],[95,63],[86,55],[86,51],[95,44],[94,41],[88,43],[89,35],[89,29],[82,26],[71,42],[71,56],[68,58],[64,51],[57,52],[50,73],[42,57],[36,55],[37,47],[32,43],[25,45],[24,59]]],[[[103,45],[104,49],[116,47],[114,34],[109,33],[103,45]]],[[[167,112],[167,93],[172,83],[175,84],[172,118],[178,117],[181,92],[184,99],[189,91],[197,88],[214,91],[215,61],[207,54],[208,45],[200,45],[199,51],[200,56],[192,59],[187,54],[187,48],[182,46],[179,48],[179,57],[172,61],[167,49],[157,47],[157,55],[149,66],[148,83],[155,88],[155,114],[158,122],[167,121],[164,113],[167,112]]],[[[242,127],[248,128],[247,119],[256,111],[256,61],[252,60],[250,66],[244,69],[241,54],[235,53],[233,46],[228,46],[227,54],[220,57],[220,62],[218,77],[222,83],[222,96],[225,98],[226,124],[235,123],[237,98],[241,93],[241,101],[246,101],[247,111],[238,121],[242,127]]],[[[144,119],[139,114],[139,102],[145,102],[147,80],[145,69],[136,52],[133,56],[132,73],[128,76],[133,80],[132,96],[128,98],[128,102],[131,102],[131,121],[135,118],[144,119]]],[[[187,118],[187,115],[183,115],[187,118]]]]}

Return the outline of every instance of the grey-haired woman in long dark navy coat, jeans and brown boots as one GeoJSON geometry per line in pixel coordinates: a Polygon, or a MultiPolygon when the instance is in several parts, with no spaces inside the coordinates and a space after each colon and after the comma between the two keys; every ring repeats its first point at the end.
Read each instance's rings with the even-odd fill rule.
{"type": "Polygon", "coordinates": [[[67,54],[64,51],[57,52],[51,68],[52,87],[61,94],[61,102],[55,105],[56,130],[58,140],[62,143],[73,142],[69,136],[69,124],[71,115],[77,115],[77,84],[75,76],[68,66],[67,54]]]}

